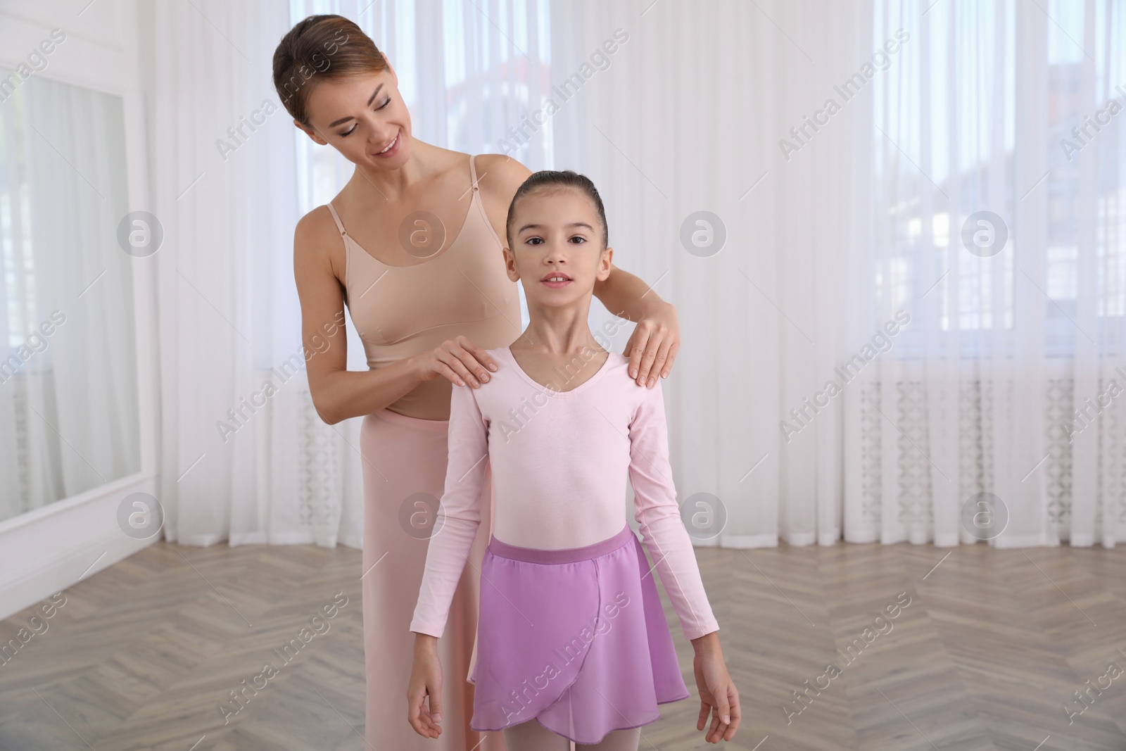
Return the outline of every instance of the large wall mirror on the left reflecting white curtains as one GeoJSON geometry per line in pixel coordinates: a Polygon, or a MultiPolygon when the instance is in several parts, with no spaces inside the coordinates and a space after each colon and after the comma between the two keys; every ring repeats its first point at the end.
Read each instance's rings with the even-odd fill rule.
{"type": "Polygon", "coordinates": [[[0,521],[141,468],[124,125],[0,70],[0,521]]]}

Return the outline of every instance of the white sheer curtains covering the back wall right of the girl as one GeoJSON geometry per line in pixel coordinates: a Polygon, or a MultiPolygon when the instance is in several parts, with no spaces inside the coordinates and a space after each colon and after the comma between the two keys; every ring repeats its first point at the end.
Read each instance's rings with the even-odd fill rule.
{"type": "Polygon", "coordinates": [[[672,458],[681,502],[720,499],[714,544],[1112,545],[1126,119],[1061,140],[1126,102],[1120,9],[556,3],[552,81],[619,28],[556,163],[679,309],[672,458]],[[699,211],[718,252],[681,241],[699,211]]]}

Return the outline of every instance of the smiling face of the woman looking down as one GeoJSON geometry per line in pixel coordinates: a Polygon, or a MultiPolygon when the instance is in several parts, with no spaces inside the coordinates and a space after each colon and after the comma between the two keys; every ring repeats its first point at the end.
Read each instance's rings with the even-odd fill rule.
{"type": "Polygon", "coordinates": [[[309,111],[313,129],[294,120],[297,127],[350,162],[384,170],[397,169],[410,158],[411,116],[390,63],[374,75],[316,83],[309,95],[309,111]]]}

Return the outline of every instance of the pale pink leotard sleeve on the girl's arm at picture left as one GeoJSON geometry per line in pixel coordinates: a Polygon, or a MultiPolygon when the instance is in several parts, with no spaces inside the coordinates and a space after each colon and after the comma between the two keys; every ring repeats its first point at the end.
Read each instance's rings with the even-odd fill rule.
{"type": "Polygon", "coordinates": [[[468,385],[455,385],[450,395],[446,486],[435,525],[438,531],[427,548],[426,571],[411,620],[412,632],[439,638],[481,525],[489,426],[473,392],[468,385]]]}

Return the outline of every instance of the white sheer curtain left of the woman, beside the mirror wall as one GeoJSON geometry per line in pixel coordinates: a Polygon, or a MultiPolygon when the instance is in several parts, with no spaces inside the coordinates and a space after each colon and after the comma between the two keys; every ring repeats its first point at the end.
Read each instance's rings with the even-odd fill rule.
{"type": "Polygon", "coordinates": [[[287,8],[140,9],[150,211],[164,231],[155,258],[166,537],[358,545],[350,439],[312,410],[298,333],[294,127],[270,79],[287,8]]]}

